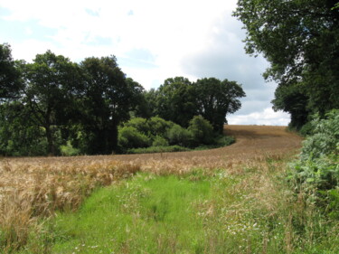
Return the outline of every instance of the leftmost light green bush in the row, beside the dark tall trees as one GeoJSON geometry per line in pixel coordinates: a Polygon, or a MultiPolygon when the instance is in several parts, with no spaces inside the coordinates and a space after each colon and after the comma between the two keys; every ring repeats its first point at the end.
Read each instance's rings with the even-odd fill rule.
{"type": "Polygon", "coordinates": [[[135,127],[119,127],[118,146],[123,149],[146,147],[150,145],[150,138],[137,131],[135,127]]]}

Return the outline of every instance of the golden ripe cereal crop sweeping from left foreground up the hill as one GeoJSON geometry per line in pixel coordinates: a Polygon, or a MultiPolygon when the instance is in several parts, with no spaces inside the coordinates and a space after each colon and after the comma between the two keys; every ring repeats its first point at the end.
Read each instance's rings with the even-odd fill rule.
{"type": "MultiPolygon", "coordinates": [[[[139,170],[155,174],[185,174],[197,167],[225,169],[229,174],[243,174],[246,168],[255,167],[269,170],[269,158],[280,159],[296,153],[300,147],[301,138],[285,128],[227,126],[225,132],[236,137],[236,144],[207,151],[3,158],[0,229],[8,235],[0,245],[7,248],[5,252],[24,246],[28,230],[37,227],[36,218],[51,216],[57,210],[74,210],[97,186],[111,184],[139,170]]],[[[253,181],[258,181],[260,188],[271,188],[267,179],[253,181]]]]}

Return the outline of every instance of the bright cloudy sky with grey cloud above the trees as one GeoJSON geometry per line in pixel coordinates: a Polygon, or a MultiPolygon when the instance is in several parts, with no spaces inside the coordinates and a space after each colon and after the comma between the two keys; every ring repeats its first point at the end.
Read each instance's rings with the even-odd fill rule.
{"type": "Polygon", "coordinates": [[[0,43],[15,60],[51,50],[80,62],[115,55],[121,70],[145,89],[167,78],[235,80],[246,98],[229,124],[287,125],[274,112],[268,62],[244,51],[246,31],[231,16],[237,0],[0,0],[0,43]]]}

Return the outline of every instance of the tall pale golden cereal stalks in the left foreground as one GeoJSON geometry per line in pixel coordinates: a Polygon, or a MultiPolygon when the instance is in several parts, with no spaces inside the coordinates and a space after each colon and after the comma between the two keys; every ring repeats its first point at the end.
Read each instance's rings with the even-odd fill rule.
{"type": "Polygon", "coordinates": [[[99,186],[135,174],[139,165],[109,162],[85,164],[15,164],[3,159],[0,167],[0,250],[23,248],[41,218],[57,211],[75,211],[99,186]]]}

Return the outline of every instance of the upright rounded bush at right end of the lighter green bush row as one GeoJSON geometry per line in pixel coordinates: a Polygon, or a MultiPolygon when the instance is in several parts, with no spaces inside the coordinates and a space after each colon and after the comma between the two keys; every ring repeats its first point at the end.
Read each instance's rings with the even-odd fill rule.
{"type": "Polygon", "coordinates": [[[213,127],[211,123],[202,118],[202,116],[195,116],[190,121],[188,130],[192,133],[195,144],[210,145],[213,143],[213,127]]]}

